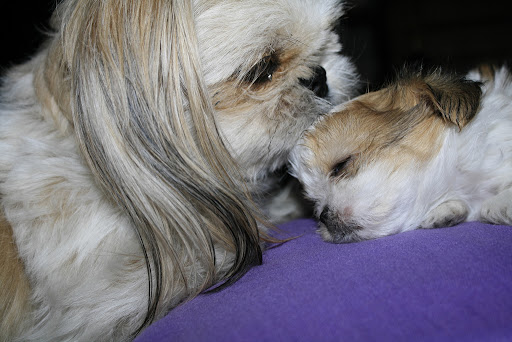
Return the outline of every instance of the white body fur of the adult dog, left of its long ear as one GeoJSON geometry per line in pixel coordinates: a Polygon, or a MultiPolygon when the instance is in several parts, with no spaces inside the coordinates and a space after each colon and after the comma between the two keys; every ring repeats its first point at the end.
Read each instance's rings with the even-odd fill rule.
{"type": "Polygon", "coordinates": [[[42,119],[32,74],[19,76],[14,89],[23,93],[13,95],[22,98],[1,113],[0,192],[33,284],[32,328],[20,340],[122,338],[113,322],[136,325],[147,303],[144,265],[130,268],[140,262],[137,237],[73,137],[42,119]]]}

